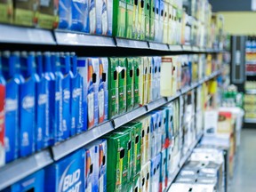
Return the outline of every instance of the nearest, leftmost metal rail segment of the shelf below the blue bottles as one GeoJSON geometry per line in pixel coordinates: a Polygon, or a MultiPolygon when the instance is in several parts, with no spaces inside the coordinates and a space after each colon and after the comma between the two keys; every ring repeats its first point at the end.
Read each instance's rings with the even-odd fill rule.
{"type": "Polygon", "coordinates": [[[0,190],[52,163],[53,159],[50,150],[45,149],[32,156],[20,158],[10,164],[6,164],[0,168],[0,190]]]}

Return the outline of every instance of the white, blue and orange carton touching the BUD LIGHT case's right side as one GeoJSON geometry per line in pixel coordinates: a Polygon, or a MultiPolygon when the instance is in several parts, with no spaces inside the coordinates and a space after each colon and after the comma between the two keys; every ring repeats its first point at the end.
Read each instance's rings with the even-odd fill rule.
{"type": "Polygon", "coordinates": [[[99,145],[91,143],[84,147],[84,191],[94,192],[99,190],[99,145]]]}

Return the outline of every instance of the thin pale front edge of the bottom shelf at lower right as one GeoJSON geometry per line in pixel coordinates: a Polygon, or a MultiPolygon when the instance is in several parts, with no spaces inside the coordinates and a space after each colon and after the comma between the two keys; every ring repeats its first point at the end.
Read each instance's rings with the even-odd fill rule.
{"type": "Polygon", "coordinates": [[[197,136],[197,139],[195,140],[195,142],[191,145],[191,147],[188,149],[188,152],[185,156],[183,156],[180,159],[180,164],[179,167],[177,167],[177,169],[175,170],[175,172],[173,172],[172,174],[172,179],[171,179],[171,185],[168,186],[164,192],[167,192],[169,190],[169,188],[171,188],[173,181],[175,180],[175,178],[178,176],[182,166],[187,162],[189,156],[191,156],[193,149],[196,148],[196,145],[199,143],[199,141],[203,138],[203,133],[199,134],[199,136],[197,136]]]}

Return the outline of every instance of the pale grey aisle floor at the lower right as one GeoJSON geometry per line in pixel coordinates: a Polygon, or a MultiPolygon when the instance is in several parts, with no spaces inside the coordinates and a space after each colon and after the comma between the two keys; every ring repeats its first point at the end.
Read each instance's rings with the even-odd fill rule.
{"type": "Polygon", "coordinates": [[[237,156],[235,176],[229,192],[256,191],[256,129],[243,129],[237,156]]]}

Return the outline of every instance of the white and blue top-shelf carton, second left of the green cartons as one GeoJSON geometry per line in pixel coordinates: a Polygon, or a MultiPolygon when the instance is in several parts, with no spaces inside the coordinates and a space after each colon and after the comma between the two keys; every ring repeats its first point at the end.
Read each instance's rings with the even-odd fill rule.
{"type": "Polygon", "coordinates": [[[102,34],[102,0],[90,0],[89,4],[90,33],[102,34]]]}

